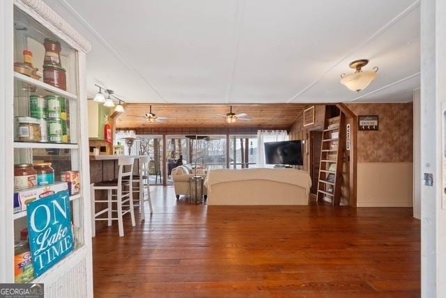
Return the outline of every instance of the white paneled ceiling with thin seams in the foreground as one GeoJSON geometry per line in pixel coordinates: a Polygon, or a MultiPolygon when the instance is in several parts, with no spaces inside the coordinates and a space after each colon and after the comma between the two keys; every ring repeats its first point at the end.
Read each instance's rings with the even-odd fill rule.
{"type": "Polygon", "coordinates": [[[415,0],[45,0],[90,40],[94,84],[127,102],[408,102],[420,87],[415,0]],[[362,93],[339,83],[368,58],[362,93]]]}

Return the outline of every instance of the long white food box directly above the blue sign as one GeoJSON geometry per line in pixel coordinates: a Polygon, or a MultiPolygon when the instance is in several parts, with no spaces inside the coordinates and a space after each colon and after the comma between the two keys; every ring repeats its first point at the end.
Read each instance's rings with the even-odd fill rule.
{"type": "Polygon", "coordinates": [[[17,191],[14,193],[14,212],[24,211],[26,210],[26,204],[67,189],[68,184],[66,182],[59,182],[54,185],[45,185],[17,191]]]}

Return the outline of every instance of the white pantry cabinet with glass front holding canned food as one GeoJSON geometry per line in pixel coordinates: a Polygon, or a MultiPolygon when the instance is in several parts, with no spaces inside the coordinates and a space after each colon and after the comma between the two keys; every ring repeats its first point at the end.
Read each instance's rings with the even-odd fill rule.
{"type": "Polygon", "coordinates": [[[88,111],[86,52],[90,45],[41,0],[0,2],[0,283],[14,283],[15,240],[26,227],[27,212],[14,213],[14,164],[36,160],[52,162],[56,182],[62,171],[79,171],[80,193],[70,196],[75,251],[32,282],[44,283],[45,297],[93,297],[91,217],[89,194],[88,111]],[[33,65],[43,68],[45,38],[61,43],[66,68],[66,91],[13,70],[22,50],[33,52],[33,65]],[[13,41],[13,46],[10,42],[13,41]],[[32,88],[27,88],[31,86],[32,88]],[[3,92],[4,91],[4,92],[3,92]],[[30,116],[30,95],[59,95],[66,99],[67,143],[15,141],[15,117],[30,116]]]}

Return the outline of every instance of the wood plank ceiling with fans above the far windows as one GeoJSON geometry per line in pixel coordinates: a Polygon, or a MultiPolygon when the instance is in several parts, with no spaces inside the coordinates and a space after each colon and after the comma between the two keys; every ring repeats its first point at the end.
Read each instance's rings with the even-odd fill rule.
{"type": "Polygon", "coordinates": [[[305,104],[236,104],[233,113],[247,113],[250,121],[226,123],[220,114],[229,113],[227,104],[153,104],[152,113],[165,117],[162,123],[147,123],[144,115],[149,104],[126,104],[125,113],[116,118],[116,128],[137,129],[145,127],[255,127],[280,128],[291,126],[305,104]]]}

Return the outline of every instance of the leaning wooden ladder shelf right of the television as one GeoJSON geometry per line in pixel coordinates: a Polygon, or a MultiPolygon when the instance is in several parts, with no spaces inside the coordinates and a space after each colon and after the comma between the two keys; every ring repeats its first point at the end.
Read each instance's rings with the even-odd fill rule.
{"type": "MultiPolygon", "coordinates": [[[[327,109],[327,108],[326,108],[327,109]]],[[[325,123],[322,136],[321,164],[318,178],[318,203],[328,202],[339,205],[341,201],[342,163],[344,161],[344,130],[345,116],[339,111],[339,116],[329,118],[325,111],[325,123]]]]}

